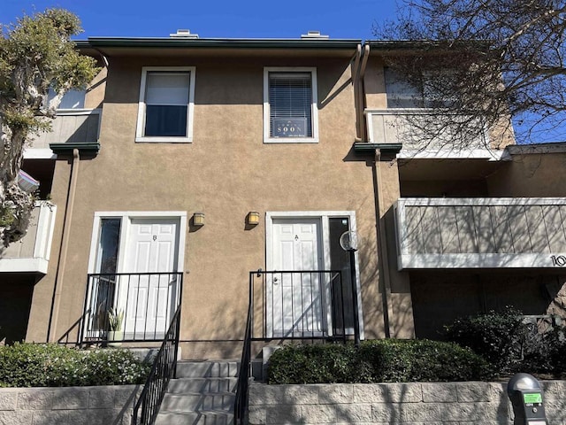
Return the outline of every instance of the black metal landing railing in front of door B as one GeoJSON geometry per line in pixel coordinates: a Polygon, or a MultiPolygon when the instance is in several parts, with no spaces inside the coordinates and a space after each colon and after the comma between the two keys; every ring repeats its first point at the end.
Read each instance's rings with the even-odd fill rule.
{"type": "Polygon", "coordinates": [[[163,340],[182,279],[177,272],[88,274],[79,344],[163,340]]]}

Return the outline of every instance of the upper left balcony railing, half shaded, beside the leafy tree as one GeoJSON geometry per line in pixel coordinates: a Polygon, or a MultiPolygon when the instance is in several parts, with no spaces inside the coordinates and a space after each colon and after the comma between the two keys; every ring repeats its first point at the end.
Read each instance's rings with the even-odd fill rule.
{"type": "Polygon", "coordinates": [[[49,149],[50,143],[96,143],[100,126],[100,109],[68,109],[57,111],[51,131],[32,140],[32,149],[49,149]]]}

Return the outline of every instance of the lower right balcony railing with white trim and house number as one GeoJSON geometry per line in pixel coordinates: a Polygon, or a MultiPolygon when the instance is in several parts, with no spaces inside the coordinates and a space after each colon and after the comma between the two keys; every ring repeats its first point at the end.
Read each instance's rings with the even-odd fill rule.
{"type": "Polygon", "coordinates": [[[566,266],[566,198],[402,198],[399,269],[566,266]]]}

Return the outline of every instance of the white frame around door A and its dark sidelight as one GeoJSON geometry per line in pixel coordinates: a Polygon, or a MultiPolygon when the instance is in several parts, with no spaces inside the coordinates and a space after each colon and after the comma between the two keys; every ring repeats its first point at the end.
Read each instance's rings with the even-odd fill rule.
{"type": "MultiPolygon", "coordinates": [[[[273,220],[277,219],[320,219],[322,232],[322,248],[323,248],[323,269],[330,270],[330,227],[328,219],[330,218],[348,218],[350,230],[356,230],[356,212],[355,211],[283,211],[283,212],[266,212],[265,213],[265,270],[273,269],[273,220]]],[[[362,288],[360,283],[360,266],[358,251],[354,252],[356,260],[356,292],[357,292],[357,318],[360,327],[360,338],[364,339],[363,332],[363,304],[362,304],[362,288]]],[[[326,299],[330,299],[330,294],[326,294],[326,299]]],[[[332,312],[327,309],[325,321],[327,323],[327,332],[332,335],[332,312]]],[[[353,334],[352,329],[352,334],[353,334]]]]}

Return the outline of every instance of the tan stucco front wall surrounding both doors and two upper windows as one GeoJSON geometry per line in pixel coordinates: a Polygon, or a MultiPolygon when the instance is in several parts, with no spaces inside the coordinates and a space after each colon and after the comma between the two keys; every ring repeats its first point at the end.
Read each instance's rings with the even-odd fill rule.
{"type": "MultiPolygon", "coordinates": [[[[111,58],[96,158],[81,160],[61,291],[58,338],[80,318],[94,214],[206,214],[187,233],[183,357],[235,356],[246,319],[249,270],[265,268],[264,213],[356,212],[366,336],[383,336],[371,164],[351,154],[356,135],[348,59],[111,58]],[[193,143],[134,143],[142,66],[196,66],[193,143]],[[263,143],[264,66],[317,66],[320,142],[263,143]],[[245,228],[249,211],[262,215],[245,228]]],[[[70,167],[57,160],[52,196],[65,205],[70,167]]],[[[28,340],[45,337],[64,208],[57,211],[49,274],[36,285],[28,340]]]]}

